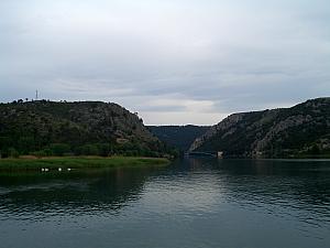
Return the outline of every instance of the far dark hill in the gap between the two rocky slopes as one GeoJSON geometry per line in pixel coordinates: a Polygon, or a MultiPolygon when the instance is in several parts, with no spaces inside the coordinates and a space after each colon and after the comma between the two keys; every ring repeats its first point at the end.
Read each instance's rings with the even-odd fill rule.
{"type": "Polygon", "coordinates": [[[201,126],[148,126],[160,140],[180,151],[187,151],[197,137],[202,136],[210,127],[201,126]]]}

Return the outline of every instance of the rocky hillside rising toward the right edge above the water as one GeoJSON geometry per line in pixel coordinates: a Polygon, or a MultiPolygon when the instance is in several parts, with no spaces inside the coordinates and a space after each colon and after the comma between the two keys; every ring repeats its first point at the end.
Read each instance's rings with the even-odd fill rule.
{"type": "Polygon", "coordinates": [[[197,138],[189,151],[222,151],[228,158],[329,155],[330,98],[231,115],[197,138]]]}

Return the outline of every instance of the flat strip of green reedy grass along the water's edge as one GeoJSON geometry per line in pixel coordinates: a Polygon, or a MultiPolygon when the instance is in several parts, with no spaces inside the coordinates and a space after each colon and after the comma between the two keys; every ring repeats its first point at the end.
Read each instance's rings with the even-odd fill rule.
{"type": "Polygon", "coordinates": [[[135,158],[135,157],[52,157],[52,158],[20,158],[1,159],[0,171],[37,171],[42,169],[95,169],[118,166],[152,166],[166,165],[169,161],[162,158],[135,158]]]}

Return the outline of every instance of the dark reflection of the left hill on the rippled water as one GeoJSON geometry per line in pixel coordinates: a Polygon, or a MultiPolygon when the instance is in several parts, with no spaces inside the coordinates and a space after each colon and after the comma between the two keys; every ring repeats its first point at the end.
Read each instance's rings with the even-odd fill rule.
{"type": "Polygon", "coordinates": [[[87,173],[35,173],[0,175],[0,220],[2,216],[54,213],[79,215],[116,214],[140,192],[153,169],[117,169],[87,173]],[[6,213],[6,215],[3,215],[6,213]]]}

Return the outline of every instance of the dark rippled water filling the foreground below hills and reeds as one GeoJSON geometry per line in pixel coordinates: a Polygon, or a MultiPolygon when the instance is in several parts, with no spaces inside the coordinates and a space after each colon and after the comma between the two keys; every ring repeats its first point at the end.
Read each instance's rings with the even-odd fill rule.
{"type": "Polygon", "coordinates": [[[327,248],[330,161],[0,175],[1,248],[327,248]]]}

